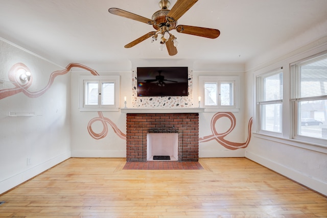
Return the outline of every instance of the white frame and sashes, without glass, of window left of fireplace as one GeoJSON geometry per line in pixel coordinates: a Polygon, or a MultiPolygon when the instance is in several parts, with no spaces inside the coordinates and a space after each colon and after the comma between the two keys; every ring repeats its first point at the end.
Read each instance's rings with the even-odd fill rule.
{"type": "Polygon", "coordinates": [[[80,111],[119,111],[120,105],[120,76],[80,76],[79,77],[79,110],[80,111]],[[85,83],[98,83],[98,104],[85,105],[85,83]],[[114,83],[114,104],[102,105],[102,84],[114,83]]]}

